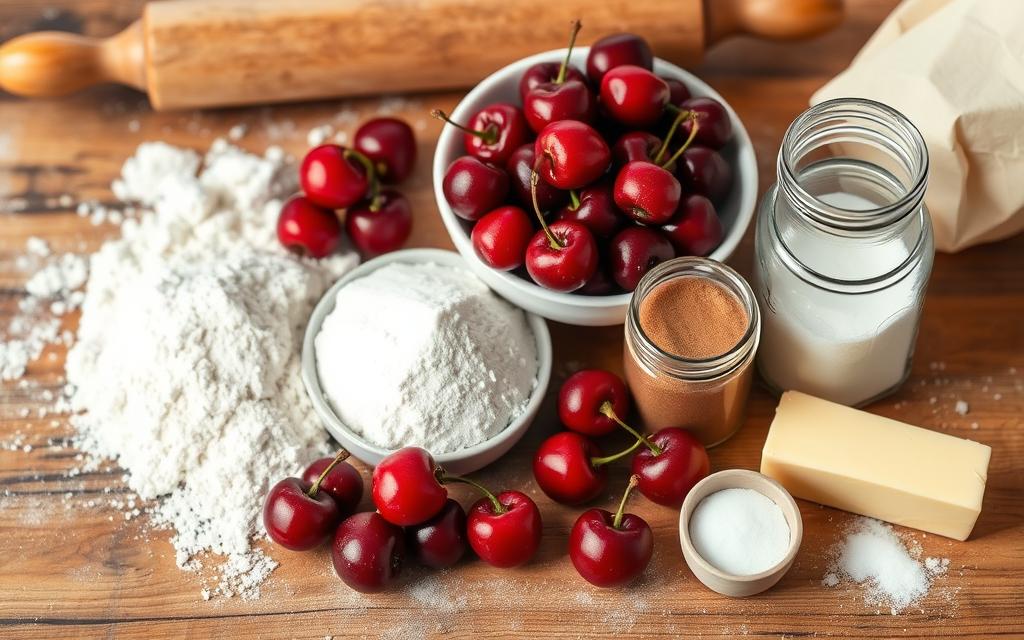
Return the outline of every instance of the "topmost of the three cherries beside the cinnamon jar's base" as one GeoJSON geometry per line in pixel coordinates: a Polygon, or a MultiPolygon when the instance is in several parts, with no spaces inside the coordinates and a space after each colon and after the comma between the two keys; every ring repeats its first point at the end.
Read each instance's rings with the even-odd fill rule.
{"type": "Polygon", "coordinates": [[[558,391],[558,417],[566,428],[590,436],[611,433],[618,425],[602,410],[615,416],[630,413],[630,393],[623,379],[603,369],[583,369],[562,383],[558,391]]]}

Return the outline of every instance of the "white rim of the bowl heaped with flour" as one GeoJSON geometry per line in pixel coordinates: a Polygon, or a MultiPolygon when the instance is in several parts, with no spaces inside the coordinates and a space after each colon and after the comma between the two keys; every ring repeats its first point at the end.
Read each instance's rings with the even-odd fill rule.
{"type": "MultiPolygon", "coordinates": [[[[407,262],[412,264],[436,263],[462,268],[471,274],[473,273],[466,264],[465,259],[460,254],[447,249],[402,249],[368,260],[335,281],[335,283],[324,292],[319,300],[317,300],[316,305],[310,312],[309,319],[306,323],[306,329],[302,337],[302,353],[300,359],[302,384],[305,387],[306,395],[309,396],[309,399],[313,404],[314,412],[324,423],[328,432],[338,440],[342,440],[343,437],[337,433],[340,432],[344,434],[345,438],[353,440],[366,451],[382,458],[389,456],[397,450],[384,449],[383,446],[374,444],[361,435],[352,431],[348,425],[342,422],[341,418],[331,407],[331,402],[325,396],[324,389],[319,381],[319,371],[316,368],[315,340],[316,335],[319,334],[321,328],[324,325],[324,319],[328,316],[328,314],[334,311],[338,291],[348,284],[369,275],[378,268],[394,262],[407,262]]],[[[475,274],[474,278],[476,278],[475,274]]],[[[498,292],[495,292],[489,288],[488,290],[499,298],[502,298],[502,300],[505,300],[505,298],[503,298],[498,292]]],[[[529,399],[527,400],[522,412],[516,416],[515,419],[509,422],[504,429],[482,442],[477,442],[472,446],[467,446],[465,449],[445,454],[434,455],[432,453],[431,455],[438,464],[468,460],[501,446],[510,438],[516,436],[521,437],[524,427],[531,422],[531,417],[536,416],[541,403],[544,401],[545,395],[547,395],[554,359],[551,346],[551,333],[548,331],[548,325],[545,323],[543,317],[522,309],[508,300],[505,300],[505,302],[525,314],[526,324],[537,342],[537,378],[534,389],[530,392],[529,399]]],[[[353,456],[355,455],[354,452],[351,453],[353,456]]],[[[358,458],[358,456],[355,457],[358,458]]],[[[369,460],[364,460],[362,462],[372,464],[369,460]]]]}

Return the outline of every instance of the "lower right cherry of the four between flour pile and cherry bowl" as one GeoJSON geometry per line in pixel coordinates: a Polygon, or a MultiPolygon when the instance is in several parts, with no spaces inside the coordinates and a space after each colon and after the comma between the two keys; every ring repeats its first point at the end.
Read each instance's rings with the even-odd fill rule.
{"type": "Polygon", "coordinates": [[[394,189],[384,189],[376,201],[359,203],[345,213],[345,231],[364,257],[401,249],[412,230],[409,201],[394,189]]]}

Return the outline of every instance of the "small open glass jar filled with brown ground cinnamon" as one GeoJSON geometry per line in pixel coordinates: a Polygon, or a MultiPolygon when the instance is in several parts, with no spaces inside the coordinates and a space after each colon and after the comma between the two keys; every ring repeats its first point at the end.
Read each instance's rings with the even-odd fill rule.
{"type": "Polygon", "coordinates": [[[707,258],[676,258],[640,281],[626,318],[626,379],[649,430],[684,427],[706,446],[740,427],[761,316],[751,286],[707,258]]]}

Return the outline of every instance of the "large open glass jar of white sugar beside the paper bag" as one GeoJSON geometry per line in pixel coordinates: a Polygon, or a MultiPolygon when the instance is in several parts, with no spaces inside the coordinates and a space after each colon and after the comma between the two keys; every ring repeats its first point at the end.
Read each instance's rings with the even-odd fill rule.
{"type": "Polygon", "coordinates": [[[928,150],[899,112],[842,98],[804,112],[758,213],[758,370],[858,406],[910,372],[935,247],[924,205],[928,150]]]}

